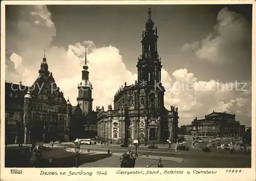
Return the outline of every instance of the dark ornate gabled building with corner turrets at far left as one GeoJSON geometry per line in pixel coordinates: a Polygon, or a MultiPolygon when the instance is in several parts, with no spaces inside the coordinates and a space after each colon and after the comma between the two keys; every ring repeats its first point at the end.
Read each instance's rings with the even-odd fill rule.
{"type": "Polygon", "coordinates": [[[32,86],[5,83],[6,144],[68,141],[67,102],[43,58],[32,86]]]}

